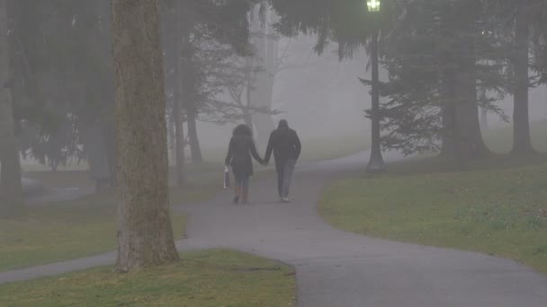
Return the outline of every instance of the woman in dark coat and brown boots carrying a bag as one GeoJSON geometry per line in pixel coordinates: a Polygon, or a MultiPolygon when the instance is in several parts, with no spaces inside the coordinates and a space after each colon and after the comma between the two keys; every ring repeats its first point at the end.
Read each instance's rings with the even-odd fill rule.
{"type": "Polygon", "coordinates": [[[226,165],[232,168],[235,177],[234,203],[238,204],[241,199],[243,204],[247,204],[249,195],[249,180],[253,175],[253,161],[265,164],[264,160],[256,153],[253,133],[247,125],[239,125],[234,129],[232,138],[229,141],[228,155],[226,156],[226,165]]]}

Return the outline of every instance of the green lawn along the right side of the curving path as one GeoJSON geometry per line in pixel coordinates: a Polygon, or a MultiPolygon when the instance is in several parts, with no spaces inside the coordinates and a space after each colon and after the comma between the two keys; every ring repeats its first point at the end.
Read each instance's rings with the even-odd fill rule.
{"type": "Polygon", "coordinates": [[[547,163],[411,175],[401,167],[399,175],[337,182],[320,214],[349,232],[475,250],[547,273],[547,163]]]}

